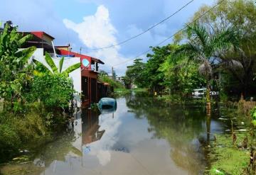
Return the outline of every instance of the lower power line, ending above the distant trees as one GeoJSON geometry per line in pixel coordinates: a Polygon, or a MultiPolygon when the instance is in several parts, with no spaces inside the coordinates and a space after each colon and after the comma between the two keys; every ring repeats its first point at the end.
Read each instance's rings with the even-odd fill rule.
{"type": "MultiPolygon", "coordinates": [[[[219,1],[215,6],[213,6],[212,8],[210,8],[208,11],[206,11],[205,13],[203,13],[201,16],[199,16],[198,18],[196,18],[194,21],[192,21],[191,23],[188,23],[188,25],[184,26],[183,28],[181,28],[180,30],[178,30],[176,33],[174,33],[173,35],[169,36],[169,37],[166,38],[165,40],[162,40],[159,44],[155,45],[154,47],[157,47],[157,46],[161,45],[162,43],[166,42],[166,40],[169,40],[169,39],[173,38],[174,35],[176,35],[176,34],[182,32],[182,31],[185,30],[188,26],[190,26],[191,24],[193,24],[193,23],[195,23],[196,21],[198,21],[198,19],[202,18],[203,16],[206,15],[206,13],[209,13],[210,11],[212,11],[213,9],[215,9],[215,7],[218,6],[218,5],[220,5],[221,3],[223,3],[223,1],[225,1],[225,0],[219,1]]],[[[121,64],[124,64],[124,63],[126,63],[126,62],[130,62],[130,61],[132,61],[132,60],[135,60],[135,59],[137,59],[137,57],[140,57],[140,56],[146,54],[146,53],[149,52],[149,51],[151,51],[151,49],[146,50],[146,51],[142,52],[141,54],[137,55],[136,57],[134,57],[134,58],[132,58],[132,59],[129,59],[129,60],[125,61],[125,62],[121,62],[121,63],[119,63],[119,64],[115,64],[113,67],[117,67],[117,66],[119,66],[119,65],[121,65],[121,64]]]]}

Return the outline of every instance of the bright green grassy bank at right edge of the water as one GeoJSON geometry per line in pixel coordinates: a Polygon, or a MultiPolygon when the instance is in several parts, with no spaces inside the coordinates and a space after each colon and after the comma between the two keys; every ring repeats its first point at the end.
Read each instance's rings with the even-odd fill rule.
{"type": "MultiPolygon", "coordinates": [[[[178,105],[199,105],[202,108],[206,105],[205,98],[196,99],[178,95],[163,95],[155,98],[165,103],[178,105]]],[[[252,124],[248,108],[241,101],[238,103],[216,103],[212,101],[212,117],[215,117],[214,113],[217,113],[216,116],[225,121],[225,125],[228,125],[230,131],[227,130],[223,134],[215,135],[216,140],[210,142],[210,146],[206,145],[203,148],[207,159],[210,161],[206,174],[255,174],[255,172],[252,172],[252,167],[249,166],[250,145],[255,146],[255,140],[252,140],[252,124]],[[231,132],[232,130],[234,132],[231,132]]]]}

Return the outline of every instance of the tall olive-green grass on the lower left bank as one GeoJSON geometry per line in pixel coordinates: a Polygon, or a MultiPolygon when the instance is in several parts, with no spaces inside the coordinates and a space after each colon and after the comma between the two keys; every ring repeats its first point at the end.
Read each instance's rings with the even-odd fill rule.
{"type": "Polygon", "coordinates": [[[48,112],[41,103],[24,106],[23,113],[1,112],[0,163],[23,159],[24,153],[50,142],[66,120],[63,115],[48,112]]]}

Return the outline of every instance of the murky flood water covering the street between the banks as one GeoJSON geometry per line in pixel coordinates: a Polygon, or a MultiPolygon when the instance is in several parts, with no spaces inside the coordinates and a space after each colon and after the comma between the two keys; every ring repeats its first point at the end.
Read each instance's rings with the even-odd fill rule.
{"type": "Polygon", "coordinates": [[[67,135],[42,147],[23,174],[203,174],[210,133],[226,124],[204,106],[174,106],[143,93],[117,98],[117,111],[82,110],[67,135]]]}

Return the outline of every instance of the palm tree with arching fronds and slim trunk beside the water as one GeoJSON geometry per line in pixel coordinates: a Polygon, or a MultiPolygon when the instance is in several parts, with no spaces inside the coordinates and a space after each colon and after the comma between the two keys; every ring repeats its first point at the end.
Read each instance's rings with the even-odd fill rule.
{"type": "Polygon", "coordinates": [[[188,60],[201,64],[199,72],[206,78],[206,102],[207,108],[210,109],[210,79],[213,74],[213,64],[223,62],[235,64],[233,60],[220,59],[219,55],[238,48],[238,32],[230,26],[218,33],[213,33],[206,30],[205,26],[193,23],[187,26],[186,34],[189,41],[174,52],[174,58],[186,56],[188,60]]]}

